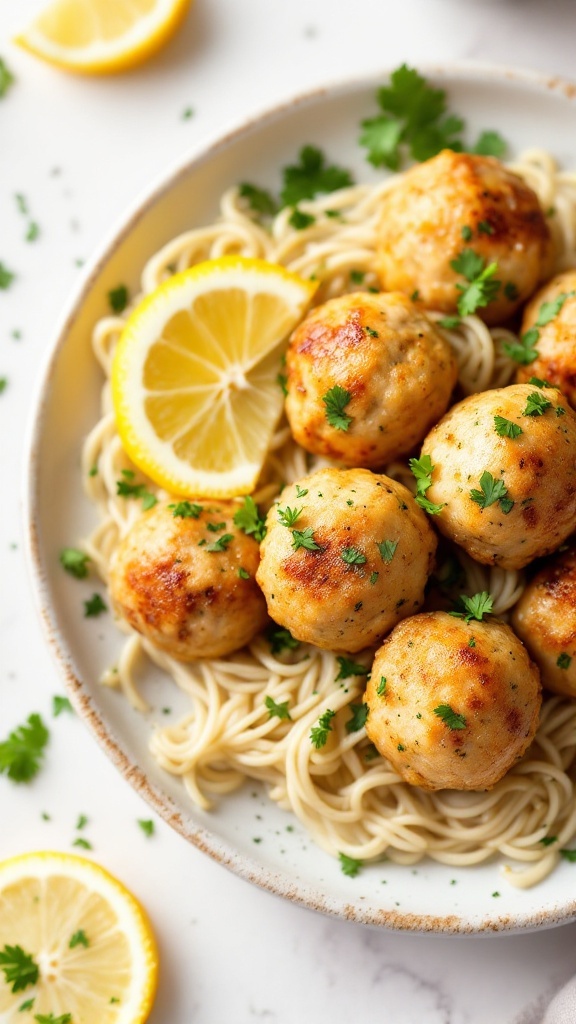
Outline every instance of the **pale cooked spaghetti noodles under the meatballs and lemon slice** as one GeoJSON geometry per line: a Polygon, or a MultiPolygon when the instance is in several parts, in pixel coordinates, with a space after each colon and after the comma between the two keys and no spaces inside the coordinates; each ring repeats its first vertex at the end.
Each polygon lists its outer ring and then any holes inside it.
{"type": "MultiPolygon", "coordinates": [[[[549,211],[559,253],[556,269],[576,265],[576,174],[560,173],[551,158],[536,150],[524,154],[511,169],[549,211]]],[[[320,282],[318,302],[358,290],[353,281],[375,288],[379,200],[394,180],[301,203],[302,211],[314,216],[314,224],[303,230],[290,226],[289,210],[276,217],[270,231],[264,230],[248,215],[238,189],[230,189],[215,223],[186,231],[149,260],[142,293],[153,291],[174,270],[230,253],[260,257],[302,276],[314,275],[320,282]]],[[[441,313],[429,316],[436,322],[443,318],[441,313]]],[[[99,513],[98,525],[84,548],[105,581],[119,540],[139,514],[135,502],[116,494],[122,470],[132,468],[116,432],[108,382],[123,326],[123,318],[107,317],[94,330],[94,351],[107,383],[102,418],[83,452],[87,492],[99,513]],[[97,474],[91,473],[96,465],[97,474]]],[[[509,382],[516,365],[502,348],[503,342],[516,340],[509,331],[489,330],[475,315],[463,317],[453,330],[441,330],[454,349],[465,394],[509,382]]],[[[255,500],[270,504],[281,481],[297,480],[318,465],[281,425],[255,500]]],[[[384,472],[412,486],[407,464],[396,462],[384,472]]],[[[149,487],[164,497],[154,484],[149,487]]],[[[455,565],[458,570],[454,577],[458,593],[489,591],[494,613],[505,618],[523,591],[522,573],[488,568],[456,550],[451,560],[452,569],[455,565]]],[[[517,862],[513,869],[503,870],[520,887],[533,885],[554,867],[558,851],[576,835],[574,701],[559,696],[544,700],[533,744],[492,791],[428,793],[401,780],[367,739],[362,716],[355,714],[369,657],[346,664],[304,644],[287,651],[278,647],[260,636],[230,657],[183,665],[130,633],[117,671],[108,673],[104,682],[118,683],[136,708],[146,710],[136,686],[136,667],[143,654],[190,697],[190,713],[176,725],[157,728],[151,750],[166,771],[181,776],[191,799],[202,808],[247,778],[259,779],[270,798],[291,810],[334,856],[364,861],[385,855],[402,864],[428,856],[446,864],[471,865],[500,853],[517,862]],[[274,710],[279,707],[284,709],[280,715],[274,710]],[[327,711],[334,712],[327,742],[317,750],[311,731],[327,711]],[[557,842],[546,845],[550,836],[557,842]]]]}

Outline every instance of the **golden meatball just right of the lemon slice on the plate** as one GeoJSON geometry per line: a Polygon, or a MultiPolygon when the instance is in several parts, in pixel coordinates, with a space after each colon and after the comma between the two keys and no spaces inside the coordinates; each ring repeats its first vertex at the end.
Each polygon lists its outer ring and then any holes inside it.
{"type": "Polygon", "coordinates": [[[351,466],[410,452],[446,412],[457,369],[400,292],[330,299],[294,331],[286,413],[298,444],[351,466]]]}

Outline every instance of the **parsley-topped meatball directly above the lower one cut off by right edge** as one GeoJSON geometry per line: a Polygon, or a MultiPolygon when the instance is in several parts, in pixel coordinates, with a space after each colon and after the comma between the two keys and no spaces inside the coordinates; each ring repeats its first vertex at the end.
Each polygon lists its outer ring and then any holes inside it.
{"type": "Polygon", "coordinates": [[[435,524],[479,562],[523,568],[576,528],[576,414],[553,388],[512,384],[464,398],[422,456],[435,524]]]}

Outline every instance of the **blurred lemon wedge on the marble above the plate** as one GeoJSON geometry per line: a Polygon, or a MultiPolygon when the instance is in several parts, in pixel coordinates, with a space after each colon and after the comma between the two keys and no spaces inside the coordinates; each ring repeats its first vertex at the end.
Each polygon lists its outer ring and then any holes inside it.
{"type": "Polygon", "coordinates": [[[125,71],[168,41],[190,5],[191,0],[53,0],[14,42],[67,71],[125,71]]]}

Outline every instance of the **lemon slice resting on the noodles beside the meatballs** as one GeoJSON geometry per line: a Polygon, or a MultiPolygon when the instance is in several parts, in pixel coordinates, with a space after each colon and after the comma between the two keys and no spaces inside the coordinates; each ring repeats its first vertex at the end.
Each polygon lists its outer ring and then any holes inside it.
{"type": "Polygon", "coordinates": [[[112,396],[124,449],[171,494],[249,494],[283,408],[280,343],[316,291],[223,256],[174,274],[129,317],[112,396]]]}

